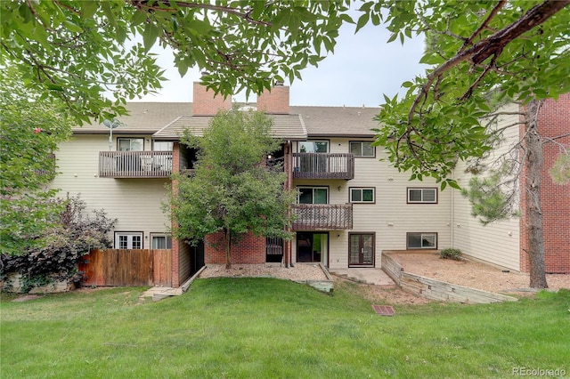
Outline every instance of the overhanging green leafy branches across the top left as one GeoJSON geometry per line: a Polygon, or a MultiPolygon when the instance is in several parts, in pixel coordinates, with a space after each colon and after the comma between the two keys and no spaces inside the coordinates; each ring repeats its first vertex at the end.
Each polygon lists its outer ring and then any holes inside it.
{"type": "Polygon", "coordinates": [[[182,75],[194,66],[208,72],[202,80],[216,93],[261,93],[333,51],[338,28],[351,20],[348,4],[4,1],[1,53],[24,84],[65,101],[79,121],[102,121],[124,114],[126,99],[160,87],[162,70],[149,54],[157,42],[173,48],[182,75]],[[102,97],[105,90],[114,100],[102,97]]]}

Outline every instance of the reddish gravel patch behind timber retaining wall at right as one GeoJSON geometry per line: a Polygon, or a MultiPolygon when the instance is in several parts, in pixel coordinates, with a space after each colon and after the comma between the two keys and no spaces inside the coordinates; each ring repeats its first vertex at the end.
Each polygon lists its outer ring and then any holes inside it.
{"type": "MultiPolygon", "coordinates": [[[[440,259],[438,253],[390,253],[403,270],[422,277],[489,292],[532,294],[530,278],[525,272],[504,269],[468,260],[440,259]]],[[[570,288],[570,274],[547,274],[550,289],[570,288]]]]}

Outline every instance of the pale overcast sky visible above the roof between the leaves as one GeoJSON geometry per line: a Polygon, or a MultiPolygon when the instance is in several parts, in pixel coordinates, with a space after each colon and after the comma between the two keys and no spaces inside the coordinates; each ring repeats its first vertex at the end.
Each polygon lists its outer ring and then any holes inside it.
{"type": "MultiPolygon", "coordinates": [[[[389,32],[381,26],[367,25],[354,35],[354,25],[344,25],[339,32],[334,54],[319,63],[318,68],[301,71],[302,80],[290,85],[290,104],[305,106],[378,107],[387,94],[403,93],[402,83],[423,74],[419,59],[423,39],[399,39],[387,44],[389,32]]],[[[199,81],[199,69],[189,69],[180,77],[172,63],[171,52],[156,47],[159,66],[169,79],[156,94],[139,101],[192,101],[192,83],[199,81]]],[[[234,101],[247,101],[245,94],[234,101]]],[[[249,101],[256,101],[255,95],[249,101]]]]}

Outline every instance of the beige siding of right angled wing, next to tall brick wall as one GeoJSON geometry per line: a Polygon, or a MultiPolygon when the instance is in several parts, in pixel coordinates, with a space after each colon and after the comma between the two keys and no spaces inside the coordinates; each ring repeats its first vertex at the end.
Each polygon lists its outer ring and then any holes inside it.
{"type": "MultiPolygon", "coordinates": [[[[511,106],[508,111],[517,111],[517,107],[511,106]]],[[[517,122],[517,116],[506,116],[501,119],[499,127],[511,125],[517,122]]],[[[500,149],[493,152],[488,162],[493,162],[501,154],[504,154],[513,143],[518,141],[518,127],[509,128],[504,137],[505,143],[500,149]]],[[[465,172],[466,165],[458,165],[455,176],[461,187],[468,187],[468,181],[472,177],[465,172]]],[[[455,190],[453,196],[453,246],[463,253],[472,255],[477,259],[493,262],[510,270],[519,270],[519,220],[513,218],[501,222],[492,222],[484,226],[471,215],[471,205],[467,198],[461,196],[455,190]]]]}

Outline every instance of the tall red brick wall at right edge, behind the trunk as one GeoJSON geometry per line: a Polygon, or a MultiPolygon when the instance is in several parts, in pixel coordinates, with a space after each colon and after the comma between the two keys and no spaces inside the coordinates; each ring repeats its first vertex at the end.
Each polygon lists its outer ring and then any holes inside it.
{"type": "MultiPolygon", "coordinates": [[[[539,112],[539,130],[542,138],[558,137],[570,133],[570,93],[558,101],[544,101],[539,112]]],[[[570,146],[570,136],[556,140],[570,146]]],[[[557,184],[550,177],[550,167],[560,153],[558,143],[544,144],[544,171],[542,173],[541,206],[544,233],[544,261],[546,272],[570,273],[570,183],[557,184]]],[[[521,191],[521,270],[528,271],[529,260],[525,230],[525,193],[521,191]]]]}

